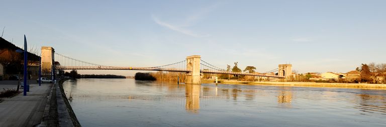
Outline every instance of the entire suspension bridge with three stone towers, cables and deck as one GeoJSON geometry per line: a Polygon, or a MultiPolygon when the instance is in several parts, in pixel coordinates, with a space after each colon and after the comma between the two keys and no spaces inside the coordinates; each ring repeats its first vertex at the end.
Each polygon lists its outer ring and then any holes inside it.
{"type": "Polygon", "coordinates": [[[107,66],[94,64],[72,57],[55,53],[52,47],[42,47],[42,70],[139,70],[139,71],[169,71],[185,72],[188,83],[200,84],[202,73],[249,75],[260,77],[286,78],[291,75],[291,64],[280,64],[278,68],[264,73],[231,72],[216,67],[201,59],[199,55],[186,57],[185,60],[162,66],[136,67],[136,66],[107,66]],[[276,73],[275,73],[276,72],[276,73]],[[272,74],[273,73],[273,74],[272,74]]]}

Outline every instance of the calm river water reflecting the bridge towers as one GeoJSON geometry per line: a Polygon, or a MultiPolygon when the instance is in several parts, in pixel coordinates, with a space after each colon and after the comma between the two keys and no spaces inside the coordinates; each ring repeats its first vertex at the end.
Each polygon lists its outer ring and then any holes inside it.
{"type": "Polygon", "coordinates": [[[386,90],[134,79],[63,88],[82,126],[386,126],[386,90]]]}

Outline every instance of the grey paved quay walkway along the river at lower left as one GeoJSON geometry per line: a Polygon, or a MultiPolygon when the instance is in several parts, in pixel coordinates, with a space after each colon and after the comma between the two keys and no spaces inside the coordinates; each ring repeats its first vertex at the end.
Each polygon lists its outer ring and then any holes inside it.
{"type": "MultiPolygon", "coordinates": [[[[35,82],[30,81],[30,83],[35,82]]],[[[17,82],[0,82],[0,89],[7,89],[8,87],[16,88],[17,82]]],[[[27,96],[19,93],[12,98],[2,98],[4,101],[0,102],[0,126],[34,126],[39,124],[51,87],[52,84],[42,84],[41,86],[36,83],[30,84],[30,92],[27,92],[27,96]]]]}

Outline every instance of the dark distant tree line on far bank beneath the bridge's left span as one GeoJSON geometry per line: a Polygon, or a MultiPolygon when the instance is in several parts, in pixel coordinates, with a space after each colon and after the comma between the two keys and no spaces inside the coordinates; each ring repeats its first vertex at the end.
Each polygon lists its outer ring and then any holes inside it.
{"type": "Polygon", "coordinates": [[[71,78],[126,78],[126,76],[122,75],[111,75],[111,74],[78,74],[76,70],[72,70],[70,72],[65,72],[64,76],[68,76],[71,78]]]}

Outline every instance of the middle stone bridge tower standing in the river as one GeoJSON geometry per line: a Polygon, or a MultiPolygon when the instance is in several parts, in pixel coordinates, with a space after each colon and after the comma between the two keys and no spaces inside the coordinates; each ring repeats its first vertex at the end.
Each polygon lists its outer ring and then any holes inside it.
{"type": "Polygon", "coordinates": [[[200,55],[192,55],[186,57],[186,70],[190,72],[186,74],[185,83],[201,84],[200,61],[200,55]]]}

